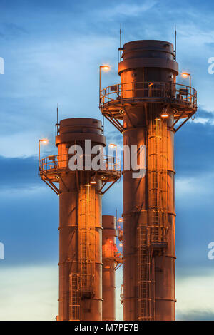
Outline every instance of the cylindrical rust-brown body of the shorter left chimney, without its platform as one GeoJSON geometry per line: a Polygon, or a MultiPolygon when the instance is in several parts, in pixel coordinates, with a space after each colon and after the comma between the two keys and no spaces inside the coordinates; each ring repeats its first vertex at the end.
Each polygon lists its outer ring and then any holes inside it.
{"type": "MultiPolygon", "coordinates": [[[[68,166],[69,148],[82,148],[85,140],[105,145],[101,122],[95,119],[61,120],[58,166],[68,166]]],[[[74,153],[74,152],[73,152],[74,153]]],[[[90,154],[90,152],[89,152],[90,154]]],[[[59,320],[101,320],[102,318],[102,231],[101,177],[91,184],[89,170],[67,172],[59,177],[59,320]]]]}

